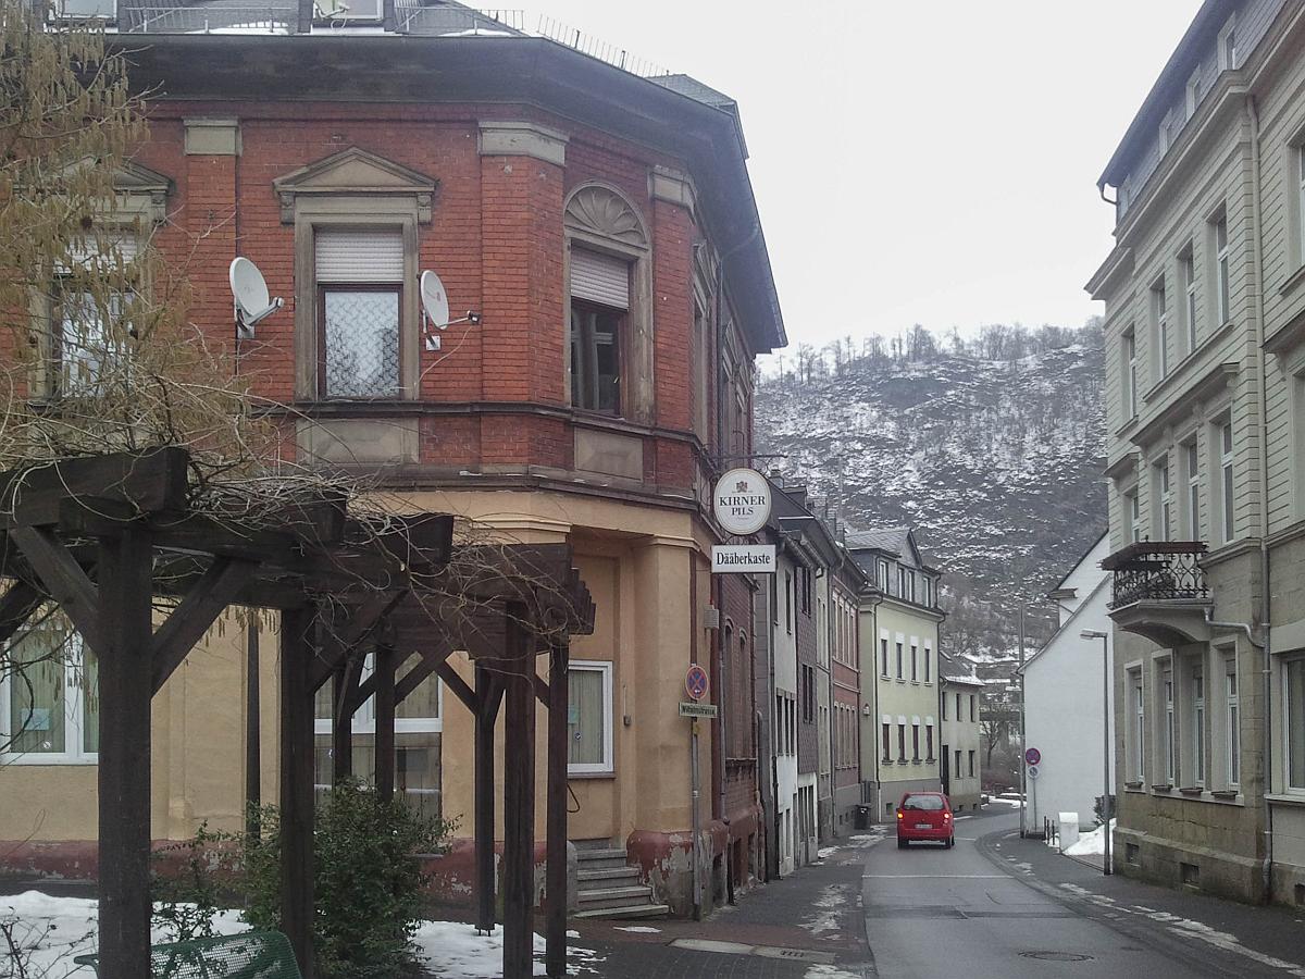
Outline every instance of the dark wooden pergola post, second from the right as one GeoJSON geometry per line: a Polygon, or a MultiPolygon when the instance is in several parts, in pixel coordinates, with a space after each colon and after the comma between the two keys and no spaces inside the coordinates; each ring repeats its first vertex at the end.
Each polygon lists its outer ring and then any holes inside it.
{"type": "Polygon", "coordinates": [[[508,681],[504,721],[502,975],[534,974],[535,658],[526,642],[523,606],[508,606],[508,681]]]}

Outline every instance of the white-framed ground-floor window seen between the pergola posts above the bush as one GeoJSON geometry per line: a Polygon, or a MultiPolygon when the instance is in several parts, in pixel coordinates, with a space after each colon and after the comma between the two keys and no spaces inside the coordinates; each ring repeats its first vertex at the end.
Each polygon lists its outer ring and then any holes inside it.
{"type": "MultiPolygon", "coordinates": [[[[399,664],[398,677],[419,662],[407,659],[407,668],[399,664]]],[[[361,679],[375,670],[371,655],[363,662],[361,679]]],[[[316,721],[316,785],[326,791],[334,781],[331,765],[331,707],[334,691],[324,685],[315,701],[316,721]]],[[[444,731],[441,684],[427,676],[411,694],[394,707],[394,787],[423,817],[441,815],[441,741],[444,731]]],[[[354,713],[354,774],[371,781],[376,773],[376,698],[369,697],[354,713]]]]}

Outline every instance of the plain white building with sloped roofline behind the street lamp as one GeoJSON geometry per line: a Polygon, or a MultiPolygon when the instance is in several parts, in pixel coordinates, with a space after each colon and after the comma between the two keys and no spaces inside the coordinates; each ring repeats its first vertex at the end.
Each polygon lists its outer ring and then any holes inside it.
{"type": "MultiPolygon", "coordinates": [[[[1094,805],[1105,781],[1101,724],[1101,640],[1088,632],[1111,632],[1107,603],[1111,576],[1100,563],[1109,553],[1101,538],[1049,594],[1058,607],[1056,633],[1021,667],[1024,676],[1024,744],[1041,752],[1037,778],[1028,781],[1028,826],[1075,812],[1081,826],[1095,825],[1094,805]]],[[[1112,670],[1113,676],[1113,670],[1112,670]]],[[[1113,691],[1113,680],[1112,687],[1113,691]]],[[[1111,697],[1111,744],[1114,704],[1111,697]]],[[[1112,752],[1113,756],[1113,752],[1112,752]]],[[[1113,778],[1114,758],[1111,758],[1113,778]]],[[[1112,782],[1113,785],[1113,782],[1112,782]]]]}

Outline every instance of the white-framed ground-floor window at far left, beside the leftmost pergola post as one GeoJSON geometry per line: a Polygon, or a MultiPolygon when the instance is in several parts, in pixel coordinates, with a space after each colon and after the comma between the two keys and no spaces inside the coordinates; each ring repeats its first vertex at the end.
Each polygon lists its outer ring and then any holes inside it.
{"type": "Polygon", "coordinates": [[[34,615],[9,646],[0,675],[0,760],[94,765],[99,751],[99,670],[68,620],[34,615]]]}

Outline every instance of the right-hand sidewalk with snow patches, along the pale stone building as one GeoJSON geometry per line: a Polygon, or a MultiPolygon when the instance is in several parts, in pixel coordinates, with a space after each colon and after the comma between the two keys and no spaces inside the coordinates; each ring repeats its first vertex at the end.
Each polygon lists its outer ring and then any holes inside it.
{"type": "Polygon", "coordinates": [[[1039,839],[992,833],[977,842],[992,863],[1139,941],[1195,942],[1233,974],[1305,976],[1305,909],[1241,905],[1101,873],[1100,856],[1065,856],[1039,839]]]}

